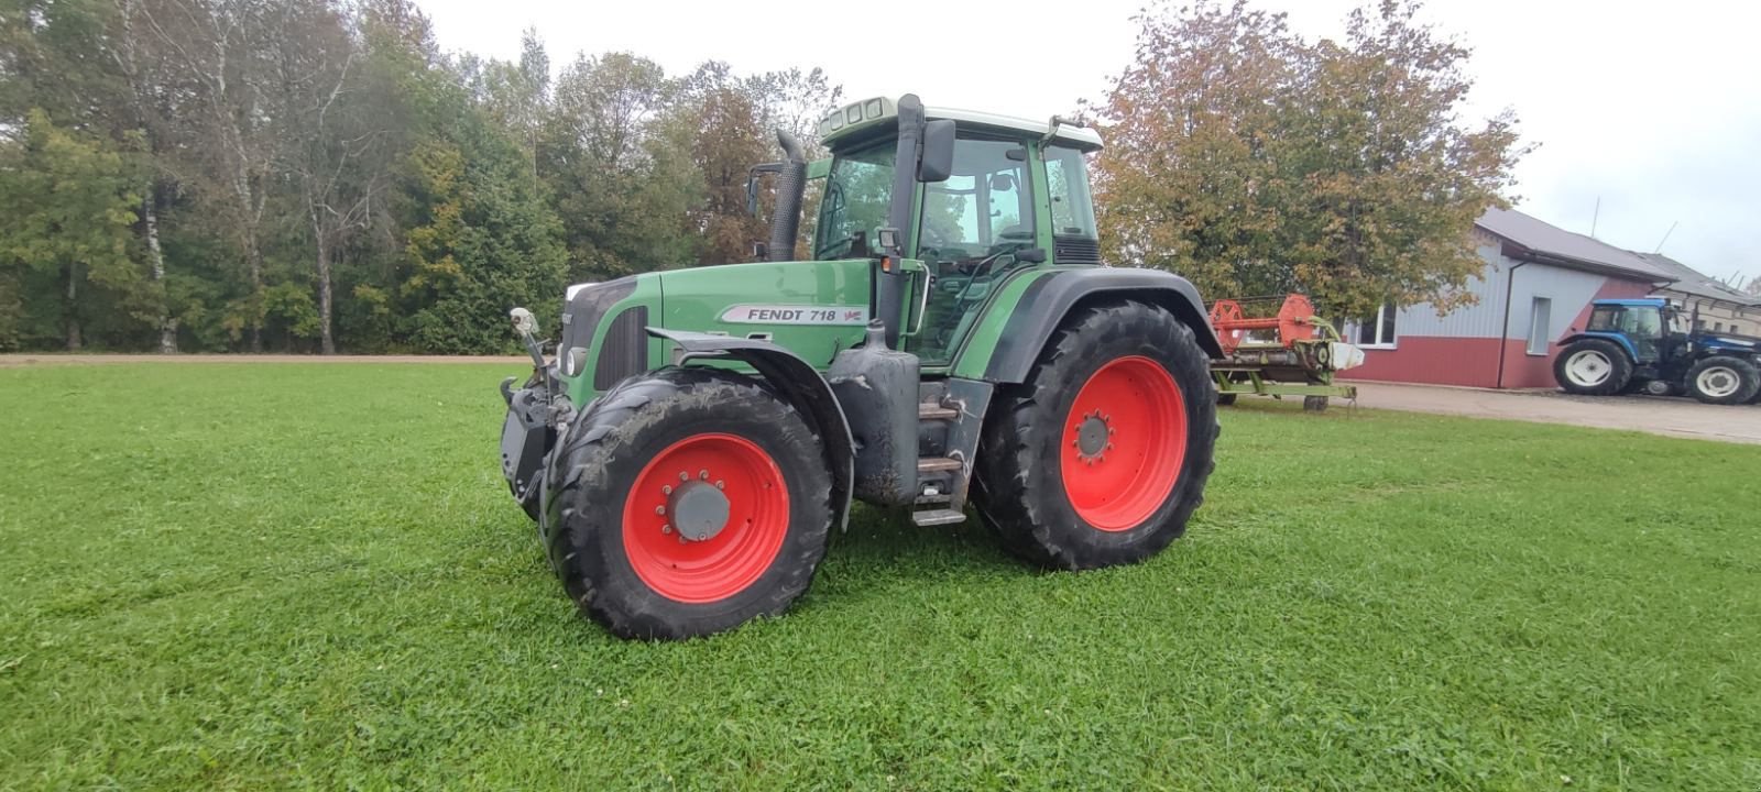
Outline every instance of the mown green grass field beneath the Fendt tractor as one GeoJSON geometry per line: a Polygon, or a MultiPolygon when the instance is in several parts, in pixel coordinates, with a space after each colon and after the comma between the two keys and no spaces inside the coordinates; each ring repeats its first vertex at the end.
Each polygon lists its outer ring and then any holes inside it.
{"type": "Polygon", "coordinates": [[[498,366],[0,370],[0,788],[1761,787],[1761,449],[1226,410],[1187,539],[859,512],[784,620],[576,618],[498,366]]]}

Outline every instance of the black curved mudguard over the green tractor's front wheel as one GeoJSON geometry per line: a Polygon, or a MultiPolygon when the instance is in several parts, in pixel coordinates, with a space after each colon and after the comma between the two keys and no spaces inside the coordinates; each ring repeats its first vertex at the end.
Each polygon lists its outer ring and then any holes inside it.
{"type": "Polygon", "coordinates": [[[831,394],[831,385],[812,364],[771,341],[711,336],[708,333],[666,327],[645,329],[650,336],[664,338],[678,347],[674,363],[685,364],[692,359],[734,359],[745,363],[777,391],[777,396],[794,405],[826,442],[831,470],[833,517],[840,530],[849,526],[851,488],[856,480],[856,442],[851,438],[851,424],[844,417],[844,408],[838,407],[838,398],[831,394]]]}

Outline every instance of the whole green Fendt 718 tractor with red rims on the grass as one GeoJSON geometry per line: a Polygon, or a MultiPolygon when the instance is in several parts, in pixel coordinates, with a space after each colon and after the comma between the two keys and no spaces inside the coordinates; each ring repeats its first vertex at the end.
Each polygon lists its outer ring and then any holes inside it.
{"type": "Polygon", "coordinates": [[[535,368],[502,384],[502,468],[616,635],[780,614],[852,498],[917,526],[970,503],[1065,570],[1148,558],[1203,502],[1220,348],[1185,278],[1101,262],[1101,136],[914,95],[819,132],[828,160],[778,132],[785,158],[754,167],[763,260],[571,287],[553,357],[512,312],[535,368]],[[812,257],[789,260],[819,178],[812,257]]]}

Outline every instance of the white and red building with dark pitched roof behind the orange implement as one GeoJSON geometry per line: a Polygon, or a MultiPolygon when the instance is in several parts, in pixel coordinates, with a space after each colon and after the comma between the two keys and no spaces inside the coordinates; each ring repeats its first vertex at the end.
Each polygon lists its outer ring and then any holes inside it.
{"type": "Polygon", "coordinates": [[[1442,317],[1430,304],[1382,308],[1347,322],[1365,363],[1354,380],[1472,387],[1553,387],[1558,340],[1583,327],[1590,301],[1643,297],[1673,278],[1645,257],[1557,229],[1514,209],[1474,224],[1486,269],[1469,290],[1479,299],[1442,317]]]}

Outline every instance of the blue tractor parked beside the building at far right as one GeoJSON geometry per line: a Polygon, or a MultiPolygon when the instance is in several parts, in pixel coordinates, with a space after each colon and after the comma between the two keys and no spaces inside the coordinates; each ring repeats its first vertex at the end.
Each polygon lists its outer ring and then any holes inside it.
{"type": "Polygon", "coordinates": [[[1689,394],[1708,405],[1761,398],[1761,340],[1691,329],[1661,297],[1597,299],[1583,333],[1562,341],[1553,378],[1566,392],[1689,394]]]}

